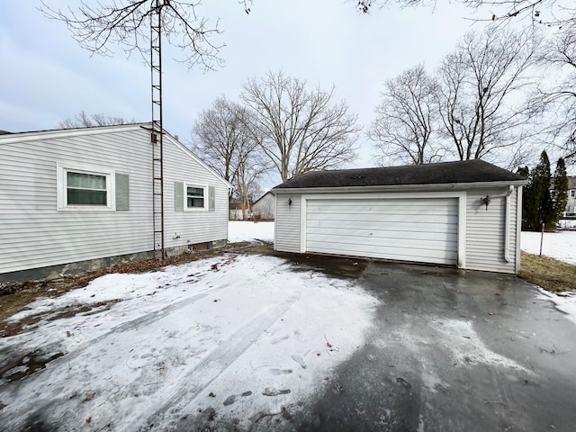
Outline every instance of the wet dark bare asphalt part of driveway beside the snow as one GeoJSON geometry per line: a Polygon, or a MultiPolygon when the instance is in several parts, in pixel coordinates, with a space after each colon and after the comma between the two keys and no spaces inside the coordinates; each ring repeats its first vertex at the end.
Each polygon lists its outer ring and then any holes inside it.
{"type": "Polygon", "coordinates": [[[575,430],[576,327],[534,286],[378,262],[359,277],[382,299],[374,329],[291,428],[575,430]]]}

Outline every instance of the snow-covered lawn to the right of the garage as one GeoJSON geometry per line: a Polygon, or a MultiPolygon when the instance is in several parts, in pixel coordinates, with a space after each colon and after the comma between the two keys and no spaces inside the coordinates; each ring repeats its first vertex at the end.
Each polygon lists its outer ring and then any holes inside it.
{"type": "MultiPolygon", "coordinates": [[[[541,236],[539,232],[522,231],[520,248],[538,255],[541,236]]],[[[545,232],[542,255],[576,266],[576,231],[545,232]]]]}

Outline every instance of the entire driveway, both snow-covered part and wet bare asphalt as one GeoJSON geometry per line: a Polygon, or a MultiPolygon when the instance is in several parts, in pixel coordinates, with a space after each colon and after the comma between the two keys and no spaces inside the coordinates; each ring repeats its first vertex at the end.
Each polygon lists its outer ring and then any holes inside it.
{"type": "Polygon", "coordinates": [[[0,430],[574,430],[576,326],[534,286],[281,258],[107,275],[41,301],[0,339],[0,364],[22,359],[0,368],[0,430]]]}

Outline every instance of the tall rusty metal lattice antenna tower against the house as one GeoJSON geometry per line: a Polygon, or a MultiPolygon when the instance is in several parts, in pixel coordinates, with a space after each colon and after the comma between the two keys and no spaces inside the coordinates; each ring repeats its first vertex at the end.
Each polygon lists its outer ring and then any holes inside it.
{"type": "Polygon", "coordinates": [[[152,72],[152,213],[155,256],[166,258],[164,248],[164,162],[162,126],[162,2],[152,0],[150,14],[150,70],[152,72]]]}

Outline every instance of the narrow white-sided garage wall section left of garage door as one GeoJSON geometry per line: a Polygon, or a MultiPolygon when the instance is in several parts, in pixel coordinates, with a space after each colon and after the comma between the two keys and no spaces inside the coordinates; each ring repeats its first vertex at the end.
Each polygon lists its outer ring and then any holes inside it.
{"type": "Polygon", "coordinates": [[[301,194],[276,193],[275,250],[301,252],[301,215],[301,194]]]}

